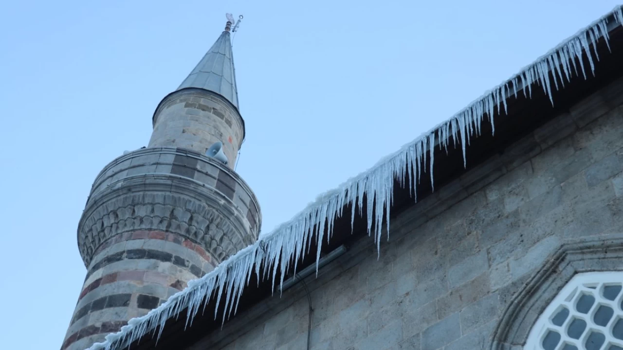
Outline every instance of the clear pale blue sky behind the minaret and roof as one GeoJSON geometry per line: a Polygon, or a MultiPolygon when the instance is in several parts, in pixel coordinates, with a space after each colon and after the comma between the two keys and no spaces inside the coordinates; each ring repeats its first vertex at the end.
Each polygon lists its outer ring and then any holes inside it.
{"type": "Polygon", "coordinates": [[[221,33],[262,232],[545,54],[616,1],[8,1],[0,11],[0,339],[59,349],[91,184],[221,33]]]}

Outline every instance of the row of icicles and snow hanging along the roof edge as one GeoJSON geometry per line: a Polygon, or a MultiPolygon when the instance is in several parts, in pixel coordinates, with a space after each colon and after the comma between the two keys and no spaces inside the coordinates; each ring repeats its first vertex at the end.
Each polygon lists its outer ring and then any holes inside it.
{"type": "MultiPolygon", "coordinates": [[[[459,111],[449,120],[440,123],[419,138],[402,146],[399,151],[381,159],[368,171],[359,174],[338,186],[338,188],[326,192],[308,205],[307,208],[297,214],[292,220],[280,225],[269,234],[262,235],[255,244],[249,245],[235,255],[220,263],[212,272],[207,273],[198,280],[189,281],[188,286],[171,296],[163,305],[151,310],[147,315],[133,318],[128,321],[126,326],[121,327],[118,333],[108,334],[103,343],[95,343],[87,350],[117,350],[128,346],[128,344],[141,338],[148,332],[158,331],[160,337],[164,323],[172,316],[177,316],[181,311],[188,308],[186,325],[192,323],[194,316],[201,308],[202,301],[205,303],[216,295],[216,309],[214,317],[221,302],[225,303],[222,321],[229,317],[232,311],[236,312],[238,301],[242,295],[245,285],[249,284],[252,273],[257,275],[257,280],[272,275],[272,286],[274,290],[277,269],[280,268],[281,278],[279,285],[283,283],[285,272],[290,268],[290,263],[297,262],[300,257],[309,252],[312,239],[321,242],[325,232],[325,222],[328,222],[329,235],[328,241],[333,232],[333,222],[336,217],[342,215],[342,210],[347,204],[351,204],[351,220],[354,220],[355,207],[359,207],[359,214],[363,215],[363,195],[367,198],[367,219],[368,235],[374,232],[374,242],[379,247],[381,240],[381,223],[383,214],[388,222],[389,239],[389,209],[392,202],[392,191],[394,179],[398,179],[402,186],[409,182],[409,190],[415,194],[416,178],[419,182],[421,174],[429,169],[430,180],[433,180],[433,150],[439,148],[446,149],[449,144],[450,136],[452,143],[457,147],[457,143],[463,150],[464,165],[465,147],[470,142],[470,137],[480,135],[480,125],[487,115],[493,126],[493,111],[497,108],[500,114],[500,103],[503,104],[506,112],[506,99],[515,95],[518,90],[523,90],[526,97],[531,97],[533,85],[540,85],[546,95],[551,100],[551,79],[549,72],[554,77],[554,87],[556,90],[564,88],[564,80],[570,81],[574,75],[579,77],[578,69],[586,78],[586,67],[581,59],[583,52],[587,55],[590,64],[590,71],[594,74],[593,59],[599,60],[597,56],[596,42],[604,38],[608,42],[608,31],[623,24],[622,6],[616,6],[611,12],[601,17],[591,25],[579,31],[573,37],[564,40],[561,44],[549,50],[548,53],[539,57],[535,62],[525,67],[502,84],[486,92],[482,97],[472,102],[464,110],[459,111]],[[614,17],[615,22],[608,23],[608,18],[614,17]],[[591,53],[589,44],[593,45],[594,52],[591,53]],[[593,57],[594,55],[594,57],[593,57]],[[562,65],[562,70],[561,66],[562,65]],[[559,86],[560,83],[560,86],[559,86]],[[511,84],[512,91],[508,87],[511,84]],[[528,92],[526,93],[526,88],[528,92]],[[460,138],[459,138],[460,136],[460,138]],[[429,153],[428,167],[426,154],[429,153]],[[408,179],[405,174],[408,174],[408,179]],[[373,209],[378,208],[374,212],[373,209]],[[386,210],[383,210],[385,208],[386,210]],[[374,222],[374,227],[372,227],[374,222]],[[315,237],[314,237],[315,236],[315,237]],[[305,251],[307,247],[307,252],[305,251]],[[260,266],[264,263],[264,270],[260,272],[260,266]],[[261,275],[260,275],[261,273],[261,275]],[[221,296],[226,296],[221,300],[221,296]]],[[[553,104],[553,101],[551,101],[553,104]]],[[[493,128],[495,133],[495,128],[493,128]]],[[[351,221],[352,225],[352,221],[351,221]]],[[[320,258],[320,249],[316,255],[317,262],[320,258]]],[[[258,282],[259,283],[259,282],[258,282]]],[[[205,306],[204,306],[205,307],[205,306]]]]}

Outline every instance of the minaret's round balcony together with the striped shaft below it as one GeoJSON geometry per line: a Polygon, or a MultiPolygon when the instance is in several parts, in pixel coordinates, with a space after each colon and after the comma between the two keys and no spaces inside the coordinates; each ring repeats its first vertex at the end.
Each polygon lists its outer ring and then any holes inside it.
{"type": "Polygon", "coordinates": [[[261,214],[231,169],[189,149],[145,148],[106,166],[78,224],[87,267],[62,350],[146,315],[252,244],[261,214]]]}

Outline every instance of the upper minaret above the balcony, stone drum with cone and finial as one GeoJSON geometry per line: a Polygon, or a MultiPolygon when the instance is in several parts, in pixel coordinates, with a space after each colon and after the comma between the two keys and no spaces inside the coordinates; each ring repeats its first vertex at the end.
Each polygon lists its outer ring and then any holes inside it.
{"type": "Polygon", "coordinates": [[[189,73],[188,77],[156,108],[150,147],[179,147],[206,154],[222,143],[227,164],[234,169],[244,140],[235,81],[231,33],[240,25],[227,16],[225,30],[189,73]],[[182,113],[180,113],[180,111],[182,113]]]}

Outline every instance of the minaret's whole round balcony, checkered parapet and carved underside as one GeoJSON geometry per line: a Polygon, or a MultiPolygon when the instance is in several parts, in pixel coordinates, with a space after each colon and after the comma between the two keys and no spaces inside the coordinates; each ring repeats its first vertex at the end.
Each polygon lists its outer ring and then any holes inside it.
{"type": "Polygon", "coordinates": [[[78,224],[78,247],[88,266],[98,246],[134,230],[173,232],[221,262],[252,244],[259,205],[231,169],[177,148],[138,149],[106,166],[78,224]]]}

